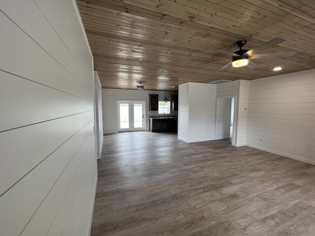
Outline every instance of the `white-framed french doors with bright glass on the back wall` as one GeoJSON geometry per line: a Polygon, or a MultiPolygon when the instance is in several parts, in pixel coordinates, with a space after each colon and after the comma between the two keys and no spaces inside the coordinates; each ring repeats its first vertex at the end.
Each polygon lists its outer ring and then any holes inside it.
{"type": "Polygon", "coordinates": [[[118,101],[118,131],[144,130],[144,101],[118,101]]]}

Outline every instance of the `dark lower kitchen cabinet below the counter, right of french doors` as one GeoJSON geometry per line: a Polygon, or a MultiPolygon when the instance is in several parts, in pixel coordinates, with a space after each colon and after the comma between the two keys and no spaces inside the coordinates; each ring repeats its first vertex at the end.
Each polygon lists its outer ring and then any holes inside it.
{"type": "Polygon", "coordinates": [[[177,132],[177,118],[150,118],[150,131],[177,132]]]}

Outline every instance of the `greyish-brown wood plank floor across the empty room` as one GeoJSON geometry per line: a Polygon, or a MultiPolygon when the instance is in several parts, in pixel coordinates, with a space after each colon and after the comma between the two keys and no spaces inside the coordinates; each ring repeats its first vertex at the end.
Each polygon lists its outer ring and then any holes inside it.
{"type": "Polygon", "coordinates": [[[315,236],[315,166],[172,133],[104,136],[92,236],[315,236]]]}

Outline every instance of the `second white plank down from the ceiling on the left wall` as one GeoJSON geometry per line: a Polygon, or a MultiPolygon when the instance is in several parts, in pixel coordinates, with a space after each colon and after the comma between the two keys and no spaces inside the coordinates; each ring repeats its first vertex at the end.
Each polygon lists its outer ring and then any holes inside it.
{"type": "Polygon", "coordinates": [[[77,80],[87,88],[89,87],[90,82],[86,79],[87,75],[81,69],[55,29],[48,22],[43,12],[36,5],[35,1],[1,1],[0,9],[77,80]],[[29,14],[29,12],[32,12],[32,14],[29,14]],[[36,24],[32,24],[33,22],[36,22],[36,24]]]}

